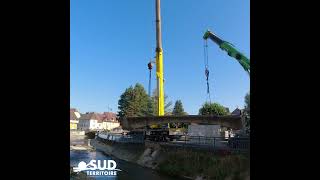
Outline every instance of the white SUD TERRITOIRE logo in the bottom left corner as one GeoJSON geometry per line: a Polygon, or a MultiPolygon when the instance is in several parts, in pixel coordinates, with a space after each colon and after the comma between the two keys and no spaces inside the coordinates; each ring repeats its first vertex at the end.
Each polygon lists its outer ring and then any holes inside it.
{"type": "Polygon", "coordinates": [[[116,176],[117,163],[114,160],[91,160],[88,164],[79,162],[78,167],[74,167],[74,172],[86,171],[88,176],[116,176]]]}

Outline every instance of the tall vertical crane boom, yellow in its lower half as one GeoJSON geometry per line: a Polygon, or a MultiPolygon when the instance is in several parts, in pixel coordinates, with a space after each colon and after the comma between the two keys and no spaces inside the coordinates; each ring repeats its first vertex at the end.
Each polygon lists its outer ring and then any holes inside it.
{"type": "Polygon", "coordinates": [[[157,69],[157,93],[158,93],[158,115],[164,115],[164,80],[163,80],[163,56],[161,37],[161,15],[160,0],[156,0],[156,69],[157,69]]]}

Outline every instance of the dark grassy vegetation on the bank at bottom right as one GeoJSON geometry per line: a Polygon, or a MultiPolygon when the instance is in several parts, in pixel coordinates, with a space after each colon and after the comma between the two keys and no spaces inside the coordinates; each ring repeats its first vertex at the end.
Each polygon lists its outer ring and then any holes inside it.
{"type": "Polygon", "coordinates": [[[158,171],[174,177],[201,177],[206,180],[246,180],[250,158],[243,154],[224,154],[178,150],[168,152],[158,171]]]}

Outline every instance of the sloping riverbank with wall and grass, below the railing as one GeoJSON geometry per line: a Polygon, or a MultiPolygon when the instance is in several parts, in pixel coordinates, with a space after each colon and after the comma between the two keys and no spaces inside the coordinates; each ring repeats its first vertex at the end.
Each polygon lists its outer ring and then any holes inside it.
{"type": "Polygon", "coordinates": [[[96,138],[90,143],[108,156],[179,179],[250,179],[250,163],[248,163],[250,161],[242,154],[171,147],[148,141],[143,144],[132,144],[96,138]]]}

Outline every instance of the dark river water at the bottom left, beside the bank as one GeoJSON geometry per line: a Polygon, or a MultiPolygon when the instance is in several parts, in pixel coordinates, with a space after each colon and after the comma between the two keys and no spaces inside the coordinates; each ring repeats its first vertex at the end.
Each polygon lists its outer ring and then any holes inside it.
{"type": "MultiPolygon", "coordinates": [[[[81,145],[83,147],[88,147],[88,139],[77,138],[70,139],[71,145],[81,145]]],[[[117,173],[116,177],[112,176],[97,176],[95,179],[110,179],[110,180],[141,180],[141,179],[152,179],[152,180],[173,180],[174,178],[163,176],[158,174],[156,171],[141,167],[137,164],[126,162],[120,159],[115,159],[114,157],[109,157],[99,150],[82,150],[74,151],[70,150],[70,166],[77,167],[80,161],[89,162],[90,160],[108,160],[112,159],[117,163],[117,169],[121,169],[117,173]]]]}

